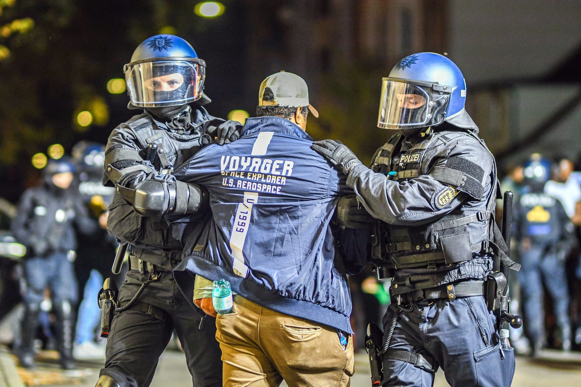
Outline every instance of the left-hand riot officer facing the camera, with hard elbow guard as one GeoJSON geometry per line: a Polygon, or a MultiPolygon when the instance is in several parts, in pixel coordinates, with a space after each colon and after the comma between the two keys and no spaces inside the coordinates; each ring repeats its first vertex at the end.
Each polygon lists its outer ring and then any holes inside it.
{"type": "Polygon", "coordinates": [[[117,190],[107,228],[129,245],[131,270],[119,290],[98,386],[148,386],[174,329],[193,385],[221,385],[216,326],[202,324],[175,284],[171,270],[182,247],[160,218],[196,212],[205,201],[199,186],[175,180],[174,167],[214,138],[224,143],[239,135],[241,125],[202,107],[210,102],[203,92],[205,71],[192,46],[174,35],[146,39],[124,66],[128,107],[142,112],[109,136],[103,184],[117,190]]]}

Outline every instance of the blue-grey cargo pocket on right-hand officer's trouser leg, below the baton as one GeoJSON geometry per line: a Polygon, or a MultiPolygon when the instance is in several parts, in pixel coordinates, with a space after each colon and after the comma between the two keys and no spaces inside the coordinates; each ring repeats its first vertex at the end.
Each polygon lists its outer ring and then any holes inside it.
{"type": "Polygon", "coordinates": [[[501,357],[500,343],[490,345],[474,352],[476,362],[476,379],[480,387],[510,387],[514,376],[514,349],[503,349],[501,357]]]}

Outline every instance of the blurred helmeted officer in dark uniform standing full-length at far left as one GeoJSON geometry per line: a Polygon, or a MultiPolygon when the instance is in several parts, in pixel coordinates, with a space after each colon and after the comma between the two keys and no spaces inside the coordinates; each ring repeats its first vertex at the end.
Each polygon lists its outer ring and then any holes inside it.
{"type": "Polygon", "coordinates": [[[94,232],[95,227],[74,190],[69,189],[73,172],[73,164],[65,157],[49,161],[44,169],[44,182],[24,191],[11,225],[13,234],[29,252],[23,262],[25,311],[21,344],[17,349],[23,367],[35,365],[34,339],[40,304],[48,286],[56,316],[60,364],[64,369],[74,368],[74,315],[78,295],[73,270],[77,248],[73,224],[84,233],[94,232]]]}

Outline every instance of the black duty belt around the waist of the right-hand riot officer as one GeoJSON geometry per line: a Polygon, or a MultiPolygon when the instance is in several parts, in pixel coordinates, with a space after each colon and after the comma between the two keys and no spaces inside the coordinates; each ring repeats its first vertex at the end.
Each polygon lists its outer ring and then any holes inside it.
{"type": "Polygon", "coordinates": [[[486,294],[486,281],[462,281],[456,284],[439,285],[433,288],[409,291],[409,288],[403,287],[398,294],[397,284],[390,288],[392,296],[395,296],[398,303],[408,301],[418,301],[421,299],[449,299],[453,301],[456,298],[481,296],[486,294]]]}

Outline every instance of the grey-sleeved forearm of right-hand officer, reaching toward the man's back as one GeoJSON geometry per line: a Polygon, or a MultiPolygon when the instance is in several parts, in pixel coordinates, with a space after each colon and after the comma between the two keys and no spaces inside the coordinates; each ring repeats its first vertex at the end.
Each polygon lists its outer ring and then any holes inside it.
{"type": "Polygon", "coordinates": [[[422,225],[452,211],[465,197],[460,193],[444,208],[437,209],[432,198],[446,187],[442,183],[427,175],[405,183],[394,182],[364,165],[356,165],[350,171],[347,185],[371,216],[392,225],[422,225]]]}

